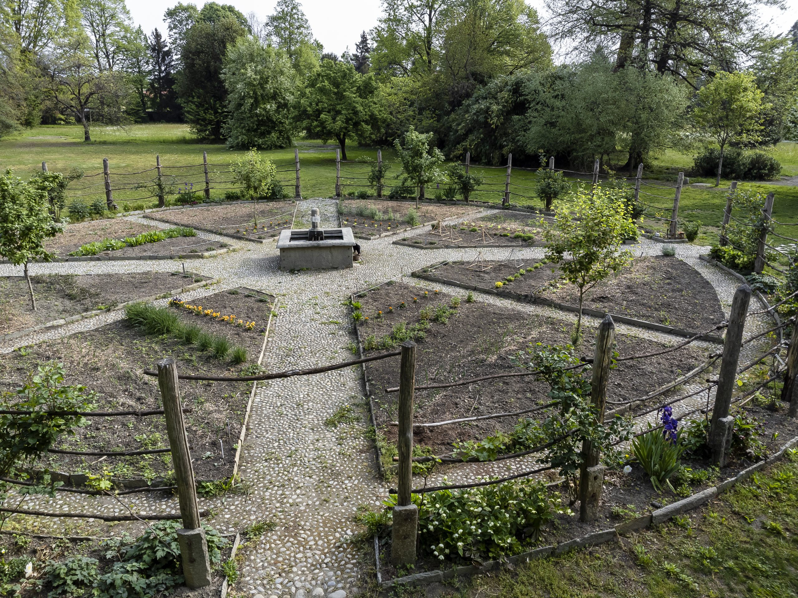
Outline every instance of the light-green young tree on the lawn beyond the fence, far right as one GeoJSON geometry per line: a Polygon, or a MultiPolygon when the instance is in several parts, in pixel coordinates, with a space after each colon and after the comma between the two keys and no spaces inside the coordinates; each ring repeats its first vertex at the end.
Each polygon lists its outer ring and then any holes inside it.
{"type": "Polygon", "coordinates": [[[757,141],[762,125],[764,93],[749,73],[717,73],[712,81],[698,90],[698,105],[693,112],[696,124],[718,145],[715,187],[721,184],[723,152],[731,141],[757,141]]]}

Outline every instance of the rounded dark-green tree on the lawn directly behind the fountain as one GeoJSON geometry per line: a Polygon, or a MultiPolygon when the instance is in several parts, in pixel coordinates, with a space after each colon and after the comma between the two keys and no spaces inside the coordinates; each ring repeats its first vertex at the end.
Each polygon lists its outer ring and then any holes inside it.
{"type": "Polygon", "coordinates": [[[380,85],[348,62],[322,61],[307,83],[298,107],[298,121],[308,135],[334,139],[346,159],[346,140],[372,140],[385,120],[380,85]]]}

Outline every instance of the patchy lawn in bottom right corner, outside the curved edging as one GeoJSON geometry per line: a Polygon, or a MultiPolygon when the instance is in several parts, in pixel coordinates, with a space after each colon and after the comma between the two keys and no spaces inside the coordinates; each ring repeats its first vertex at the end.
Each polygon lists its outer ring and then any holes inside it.
{"type": "MultiPolygon", "coordinates": [[[[798,456],[703,509],[619,542],[447,582],[458,598],[798,596],[798,456]],[[454,585],[452,588],[451,586],[454,585]]],[[[396,596],[423,596],[405,588],[396,596]]]]}

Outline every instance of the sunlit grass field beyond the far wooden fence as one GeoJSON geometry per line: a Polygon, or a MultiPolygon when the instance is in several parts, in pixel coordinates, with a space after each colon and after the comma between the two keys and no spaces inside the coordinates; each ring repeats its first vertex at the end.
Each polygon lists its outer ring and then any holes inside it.
{"type": "MultiPolygon", "coordinates": [[[[47,162],[51,171],[69,171],[71,168],[80,168],[87,177],[77,183],[86,189],[84,198],[88,201],[94,197],[103,197],[102,159],[108,158],[111,178],[114,187],[122,187],[124,191],[116,191],[114,199],[123,209],[140,209],[156,205],[152,197],[136,201],[137,197],[149,195],[137,189],[137,184],[151,181],[154,173],[145,172],[140,175],[128,175],[125,178],[121,173],[140,172],[155,167],[156,155],[160,155],[164,165],[164,174],[176,175],[175,180],[191,180],[196,182],[199,189],[202,187],[202,169],[174,169],[187,165],[202,163],[202,152],[207,151],[208,161],[221,166],[211,167],[211,171],[223,171],[226,165],[237,159],[242,151],[227,150],[221,144],[200,144],[192,140],[188,128],[184,124],[137,124],[125,128],[112,128],[97,126],[92,131],[93,142],[83,142],[83,130],[78,126],[41,126],[23,129],[14,136],[0,140],[0,167],[3,170],[10,167],[22,178],[27,178],[41,168],[41,162],[47,162]],[[95,175],[89,177],[88,175],[95,175]]],[[[334,195],[335,187],[335,146],[322,144],[314,140],[298,140],[299,157],[301,164],[302,196],[303,197],[330,197],[334,195]]],[[[377,151],[374,148],[347,148],[350,160],[376,159],[377,151]]],[[[773,150],[774,155],[783,165],[784,175],[798,174],[798,144],[784,142],[773,150]]],[[[263,155],[275,163],[286,164],[294,160],[294,148],[283,150],[264,151],[263,155]]],[[[383,151],[385,160],[395,159],[392,149],[383,151]]],[[[654,161],[654,173],[658,180],[654,184],[674,185],[675,173],[678,170],[688,171],[692,165],[692,157],[675,151],[666,151],[654,161]]],[[[284,184],[294,184],[294,173],[286,167],[286,172],[280,173],[284,184]]],[[[393,167],[392,174],[397,172],[393,167]]],[[[480,168],[473,170],[485,175],[485,187],[491,191],[480,191],[473,195],[473,199],[481,199],[500,203],[504,191],[504,168],[480,168]]],[[[353,177],[349,179],[351,186],[345,191],[357,191],[354,185],[367,183],[365,177],[369,167],[365,164],[342,164],[342,175],[353,177]]],[[[211,177],[214,175],[211,174],[211,177]]],[[[215,175],[215,180],[228,179],[223,172],[215,175]]],[[[514,168],[512,171],[512,191],[519,195],[513,196],[513,203],[522,206],[538,207],[538,199],[524,198],[522,195],[534,195],[534,171],[524,171],[514,168]]],[[[692,179],[691,182],[707,182],[708,179],[692,179]]],[[[346,181],[345,181],[346,183],[346,181]]],[[[720,224],[723,208],[726,202],[725,188],[729,181],[722,181],[719,188],[685,187],[681,195],[679,217],[683,220],[700,220],[706,226],[720,224]]],[[[232,187],[231,183],[215,185],[214,194],[223,195],[225,187],[232,187]]],[[[743,190],[776,194],[773,208],[773,217],[784,222],[798,222],[798,187],[786,185],[772,185],[766,183],[741,183],[743,190]]],[[[293,191],[292,188],[286,191],[293,191]]],[[[435,189],[427,190],[427,197],[433,197],[435,189]]],[[[657,206],[655,214],[670,218],[670,208],[673,203],[672,190],[658,190],[653,187],[643,187],[643,191],[662,195],[660,198],[642,195],[641,199],[657,206]]],[[[73,192],[74,193],[74,192],[73,192]]],[[[293,195],[293,193],[290,193],[293,195]]],[[[649,219],[648,223],[654,227],[658,221],[649,219]]],[[[663,227],[663,225],[659,225],[663,227]]],[[[792,236],[792,231],[784,227],[776,227],[777,232],[792,236]]],[[[711,242],[717,238],[717,230],[706,229],[699,238],[700,242],[711,242]]]]}

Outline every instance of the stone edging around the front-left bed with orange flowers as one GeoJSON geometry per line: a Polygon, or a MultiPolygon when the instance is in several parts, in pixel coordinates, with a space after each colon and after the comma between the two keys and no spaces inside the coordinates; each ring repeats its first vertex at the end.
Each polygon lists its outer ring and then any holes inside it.
{"type": "MultiPolygon", "coordinates": [[[[213,279],[211,279],[209,281],[206,281],[206,284],[204,284],[204,285],[203,285],[203,283],[197,283],[196,285],[192,285],[192,286],[194,286],[194,287],[199,289],[202,286],[215,285],[220,280],[221,280],[220,278],[213,278],[213,279]]],[[[252,291],[253,293],[261,293],[261,294],[269,297],[270,300],[272,300],[271,301],[271,305],[270,305],[270,313],[269,313],[269,325],[267,325],[267,332],[266,332],[266,334],[263,337],[263,345],[261,346],[260,356],[258,358],[258,365],[260,365],[263,362],[263,356],[264,356],[264,354],[266,352],[266,344],[267,344],[267,341],[269,340],[269,328],[271,326],[271,320],[272,320],[271,312],[273,311],[271,308],[274,307],[274,305],[275,305],[275,301],[274,300],[276,299],[276,297],[274,295],[272,295],[271,293],[266,293],[265,291],[259,291],[258,289],[250,289],[250,288],[248,288],[246,286],[231,287],[231,289],[244,289],[244,290],[247,290],[247,291],[252,291]]],[[[170,293],[162,293],[163,296],[159,295],[159,296],[157,296],[155,298],[156,299],[162,299],[162,298],[168,297],[169,295],[176,295],[178,293],[186,293],[188,290],[192,290],[192,289],[188,289],[188,287],[187,287],[187,288],[185,288],[185,289],[183,289],[181,291],[178,291],[178,292],[171,291],[170,293]]],[[[148,299],[138,299],[136,301],[151,301],[151,299],[150,298],[148,298],[148,299]]],[[[128,301],[128,303],[136,303],[136,301],[128,301]]],[[[124,305],[128,305],[128,304],[126,303],[124,305]]],[[[123,305],[120,305],[120,306],[117,307],[117,309],[121,309],[122,307],[123,307],[123,305]]],[[[109,310],[109,311],[111,311],[111,310],[109,310]]],[[[252,383],[252,390],[250,391],[250,397],[249,397],[249,400],[247,401],[247,411],[246,411],[246,414],[244,415],[243,423],[241,424],[241,432],[239,434],[238,447],[235,450],[235,458],[233,458],[233,473],[231,474],[230,478],[197,479],[197,480],[195,480],[196,484],[199,485],[201,483],[206,483],[206,482],[207,483],[220,482],[223,479],[234,479],[235,478],[235,475],[238,473],[238,470],[239,470],[239,462],[241,460],[241,452],[242,452],[242,448],[243,448],[244,439],[246,438],[246,434],[247,434],[247,421],[249,420],[250,412],[252,410],[252,402],[255,399],[255,391],[256,391],[257,385],[258,385],[257,382],[253,382],[252,383]]],[[[26,469],[25,472],[26,472],[26,474],[29,474],[30,476],[32,476],[34,478],[38,478],[38,476],[40,476],[41,474],[45,473],[44,470],[34,470],[34,469],[26,469]]],[[[81,486],[85,486],[86,482],[89,481],[89,476],[87,474],[65,474],[62,471],[49,471],[49,474],[50,474],[50,477],[53,478],[54,482],[63,482],[64,486],[69,486],[70,488],[78,488],[78,487],[81,487],[81,486]]],[[[126,479],[126,480],[120,480],[119,478],[111,478],[111,483],[113,484],[115,490],[133,490],[133,489],[136,489],[136,488],[144,488],[144,487],[160,488],[161,486],[167,486],[168,485],[164,478],[153,478],[152,482],[148,482],[146,478],[130,478],[130,479],[126,479]]]]}

